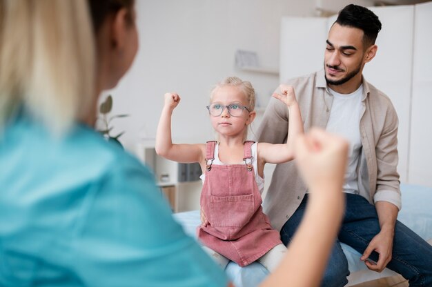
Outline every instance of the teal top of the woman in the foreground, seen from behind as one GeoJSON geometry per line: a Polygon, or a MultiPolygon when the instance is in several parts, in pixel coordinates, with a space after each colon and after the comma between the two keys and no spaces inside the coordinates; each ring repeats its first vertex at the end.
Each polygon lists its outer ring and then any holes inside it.
{"type": "Polygon", "coordinates": [[[117,144],[23,112],[0,132],[0,286],[227,286],[117,144]]]}

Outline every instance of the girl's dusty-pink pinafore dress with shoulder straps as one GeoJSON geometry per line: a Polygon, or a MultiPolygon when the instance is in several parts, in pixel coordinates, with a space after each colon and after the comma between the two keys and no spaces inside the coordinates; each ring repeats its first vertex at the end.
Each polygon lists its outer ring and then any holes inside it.
{"type": "Polygon", "coordinates": [[[197,237],[208,248],[243,267],[282,241],[262,212],[252,166],[253,142],[244,144],[244,164],[230,165],[212,165],[215,144],[207,142],[206,179],[201,193],[201,208],[209,224],[198,226],[197,237]]]}

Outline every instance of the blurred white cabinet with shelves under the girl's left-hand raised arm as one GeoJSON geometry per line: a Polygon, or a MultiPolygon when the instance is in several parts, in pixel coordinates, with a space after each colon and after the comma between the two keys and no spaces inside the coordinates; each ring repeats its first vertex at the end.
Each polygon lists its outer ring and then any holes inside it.
{"type": "Polygon", "coordinates": [[[159,157],[152,141],[138,143],[135,155],[153,170],[156,184],[161,188],[173,212],[199,209],[202,190],[202,181],[199,179],[201,170],[197,169],[199,164],[179,164],[159,157]]]}

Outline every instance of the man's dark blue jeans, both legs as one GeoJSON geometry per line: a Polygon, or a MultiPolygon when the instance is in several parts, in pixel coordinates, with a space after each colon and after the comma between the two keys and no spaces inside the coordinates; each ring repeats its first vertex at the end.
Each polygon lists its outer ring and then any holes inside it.
{"type": "MultiPolygon", "coordinates": [[[[282,242],[287,245],[302,220],[308,195],[293,216],[286,221],[280,232],[282,242]]],[[[340,242],[351,246],[360,254],[380,232],[375,206],[360,195],[346,194],[346,210],[342,226],[328,261],[322,286],[344,286],[348,283],[348,261],[340,242]]],[[[373,252],[369,257],[378,260],[373,252]]],[[[360,260],[360,258],[359,258],[360,260]]],[[[432,286],[432,246],[411,229],[396,221],[393,239],[393,255],[387,268],[409,279],[409,286],[432,286]]]]}

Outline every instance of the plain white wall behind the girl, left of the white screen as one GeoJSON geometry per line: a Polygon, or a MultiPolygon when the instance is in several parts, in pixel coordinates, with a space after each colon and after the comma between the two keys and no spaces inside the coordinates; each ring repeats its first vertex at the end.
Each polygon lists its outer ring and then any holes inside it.
{"type": "Polygon", "coordinates": [[[313,0],[137,1],[137,59],[109,91],[112,114],[130,117],[115,119],[113,134],[126,130],[120,140],[128,147],[140,137],[154,137],[164,92],[176,91],[182,99],[174,113],[174,139],[212,139],[205,108],[209,91],[229,75],[252,81],[265,106],[277,75],[236,70],[235,50],[253,50],[262,66],[277,70],[281,17],[311,15],[313,5],[313,0]]]}

